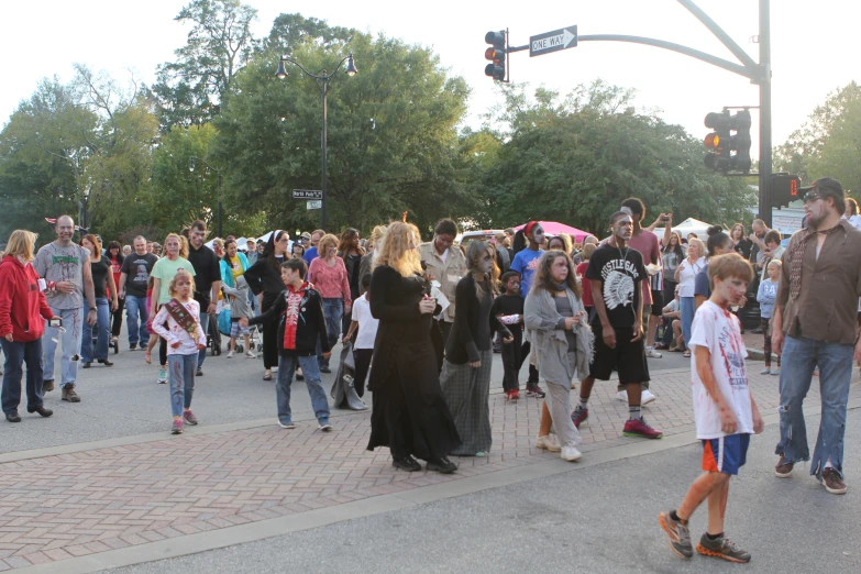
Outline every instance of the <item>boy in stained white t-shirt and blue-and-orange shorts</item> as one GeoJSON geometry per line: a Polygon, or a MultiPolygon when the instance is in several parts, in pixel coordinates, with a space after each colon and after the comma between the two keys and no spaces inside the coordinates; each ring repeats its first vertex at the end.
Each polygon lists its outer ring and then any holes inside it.
{"type": "Polygon", "coordinates": [[[748,389],[739,320],[729,307],[739,305],[753,269],[738,253],[713,257],[708,265],[711,297],[696,311],[689,346],[697,439],[703,441],[703,473],[676,510],[661,512],[670,548],[693,556],[687,521],[708,498],[708,528],[697,552],[730,562],[749,562],[750,553],[724,537],[729,478],[744,465],[751,433],[762,432],[762,417],[748,389]]]}

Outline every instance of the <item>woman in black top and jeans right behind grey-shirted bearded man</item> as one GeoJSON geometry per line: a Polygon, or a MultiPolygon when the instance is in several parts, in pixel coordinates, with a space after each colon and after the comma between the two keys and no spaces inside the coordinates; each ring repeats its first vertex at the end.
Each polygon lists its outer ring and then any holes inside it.
{"type": "Polygon", "coordinates": [[[117,302],[117,284],[113,282],[111,266],[101,255],[101,245],[96,235],[84,235],[80,240],[80,246],[90,252],[90,268],[92,269],[92,289],[96,292],[96,325],[99,329],[96,342],[96,353],[92,352],[92,325],[84,322],[82,336],[80,343],[80,360],[82,368],[90,368],[92,360],[96,358],[104,366],[113,366],[108,361],[108,349],[111,330],[111,310],[115,311],[119,307],[117,302]],[[108,303],[108,297],[111,302],[108,303]]]}

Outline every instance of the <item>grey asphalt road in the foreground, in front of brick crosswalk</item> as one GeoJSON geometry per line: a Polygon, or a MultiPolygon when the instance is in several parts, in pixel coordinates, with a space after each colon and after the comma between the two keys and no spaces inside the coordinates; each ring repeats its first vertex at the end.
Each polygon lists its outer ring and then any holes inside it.
{"type": "MultiPolygon", "coordinates": [[[[808,419],[812,439],[817,422],[808,419]]],[[[752,553],[748,565],[684,560],[667,548],[656,517],[699,473],[702,450],[691,445],[115,572],[861,572],[858,411],[847,429],[845,496],[827,494],[808,468],[776,478],[776,434],[771,426],[752,440],[730,487],[726,531],[752,553]]],[[[700,508],[694,540],[705,521],[700,508]]]]}

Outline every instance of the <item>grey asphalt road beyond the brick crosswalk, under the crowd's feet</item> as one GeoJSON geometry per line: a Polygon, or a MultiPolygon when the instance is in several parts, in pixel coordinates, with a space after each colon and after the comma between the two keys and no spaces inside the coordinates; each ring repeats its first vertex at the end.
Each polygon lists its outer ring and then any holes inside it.
{"type": "MultiPolygon", "coordinates": [[[[200,419],[198,428],[267,418],[275,423],[275,383],[262,379],[263,361],[241,355],[228,360],[227,341],[225,338],[221,356],[207,356],[203,376],[196,380],[192,410],[200,419]]],[[[340,349],[339,344],[333,353],[333,371],[336,371],[340,349]]],[[[57,374],[59,356],[58,347],[57,374]]],[[[81,402],[63,402],[58,387],[46,394],[45,405],[54,410],[51,419],[29,415],[26,398],[22,397],[19,408],[22,422],[13,424],[0,419],[0,453],[168,432],[172,422],[168,386],[156,384],[157,352],[154,353],[154,364],[145,364],[142,351],[129,351],[123,325],[120,353],[114,355],[111,351],[110,360],[114,363],[113,367],[93,363],[89,369],[78,369],[77,391],[81,402]]],[[[688,364],[680,353],[665,353],[663,358],[650,360],[655,373],[658,369],[680,368],[688,364]]],[[[525,365],[521,385],[526,384],[527,375],[528,365],[525,365]]],[[[492,389],[501,390],[501,355],[494,355],[492,376],[492,389]]],[[[328,391],[334,382],[334,373],[323,374],[322,380],[328,391]]],[[[313,419],[311,401],[303,387],[303,384],[294,382],[291,407],[294,419],[297,420],[313,419]]],[[[655,393],[660,395],[660,391],[655,393]]],[[[366,401],[369,404],[369,396],[366,401]]],[[[335,417],[341,412],[350,411],[332,410],[335,417]]]]}

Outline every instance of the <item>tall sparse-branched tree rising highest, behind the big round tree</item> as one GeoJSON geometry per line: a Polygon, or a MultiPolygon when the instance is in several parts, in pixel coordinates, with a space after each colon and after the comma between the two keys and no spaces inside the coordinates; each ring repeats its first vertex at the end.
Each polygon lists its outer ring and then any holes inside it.
{"type": "Polygon", "coordinates": [[[192,0],[175,18],[191,23],[176,62],[158,66],[152,93],[163,129],[210,121],[227,108],[230,86],[254,48],[257,11],[240,0],[192,0]]]}

